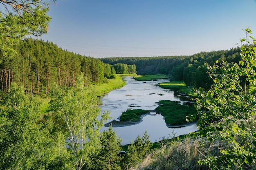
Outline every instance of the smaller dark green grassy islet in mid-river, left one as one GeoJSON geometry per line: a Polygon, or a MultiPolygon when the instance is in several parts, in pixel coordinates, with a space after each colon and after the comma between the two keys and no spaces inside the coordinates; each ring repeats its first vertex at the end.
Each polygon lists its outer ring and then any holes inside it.
{"type": "Polygon", "coordinates": [[[148,110],[127,109],[120,116],[120,121],[140,121],[140,116],[146,113],[148,113],[148,110]]]}

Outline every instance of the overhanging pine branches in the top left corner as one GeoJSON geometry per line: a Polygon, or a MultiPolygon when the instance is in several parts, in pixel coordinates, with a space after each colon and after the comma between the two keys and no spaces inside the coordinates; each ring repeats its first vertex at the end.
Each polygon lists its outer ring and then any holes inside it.
{"type": "Polygon", "coordinates": [[[47,15],[49,1],[1,0],[0,4],[0,54],[2,57],[10,57],[14,52],[13,45],[25,35],[40,36],[47,32],[51,19],[47,15]]]}

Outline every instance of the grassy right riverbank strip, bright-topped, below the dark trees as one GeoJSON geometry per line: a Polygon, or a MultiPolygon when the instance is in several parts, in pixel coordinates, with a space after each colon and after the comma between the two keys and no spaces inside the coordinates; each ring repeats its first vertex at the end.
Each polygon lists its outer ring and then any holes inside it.
{"type": "Polygon", "coordinates": [[[158,86],[161,88],[166,88],[171,90],[179,90],[180,93],[185,93],[190,97],[198,97],[191,86],[186,86],[186,84],[181,81],[159,83],[158,86]]]}

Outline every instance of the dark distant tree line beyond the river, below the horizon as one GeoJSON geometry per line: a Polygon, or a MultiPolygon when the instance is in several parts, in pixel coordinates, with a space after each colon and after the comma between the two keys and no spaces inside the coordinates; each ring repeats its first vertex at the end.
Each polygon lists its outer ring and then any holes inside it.
{"type": "Polygon", "coordinates": [[[216,60],[227,62],[240,61],[240,49],[201,52],[191,56],[163,56],[163,57],[110,57],[100,60],[108,64],[135,64],[138,74],[166,74],[173,80],[183,80],[186,85],[195,88],[209,89],[213,83],[209,79],[207,66],[216,60]]]}

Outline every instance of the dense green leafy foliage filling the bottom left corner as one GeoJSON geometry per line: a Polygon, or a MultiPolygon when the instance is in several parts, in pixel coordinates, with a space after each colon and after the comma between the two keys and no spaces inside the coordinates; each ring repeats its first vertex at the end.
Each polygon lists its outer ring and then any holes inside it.
{"type": "Polygon", "coordinates": [[[50,133],[50,121],[40,121],[39,103],[27,97],[22,87],[12,83],[0,107],[0,169],[48,169],[65,159],[58,142],[63,138],[50,133]]]}

